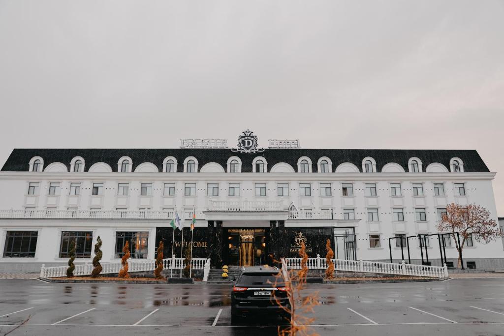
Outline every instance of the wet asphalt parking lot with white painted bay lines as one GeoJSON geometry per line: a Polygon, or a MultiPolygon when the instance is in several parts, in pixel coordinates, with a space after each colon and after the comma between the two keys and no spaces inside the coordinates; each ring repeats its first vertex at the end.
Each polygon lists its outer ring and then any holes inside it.
{"type": "MultiPolygon", "coordinates": [[[[274,335],[284,321],[231,325],[230,286],[2,280],[0,335],[274,335]]],[[[504,280],[309,285],[319,334],[504,335],[504,280]]]]}

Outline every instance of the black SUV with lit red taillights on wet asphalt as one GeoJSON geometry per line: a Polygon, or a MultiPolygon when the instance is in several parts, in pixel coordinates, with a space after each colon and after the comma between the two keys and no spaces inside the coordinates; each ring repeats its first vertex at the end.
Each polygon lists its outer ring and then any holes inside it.
{"type": "Polygon", "coordinates": [[[252,314],[273,314],[290,320],[290,314],[279,306],[290,308],[286,290],[277,267],[243,267],[233,284],[231,320],[252,314]]]}

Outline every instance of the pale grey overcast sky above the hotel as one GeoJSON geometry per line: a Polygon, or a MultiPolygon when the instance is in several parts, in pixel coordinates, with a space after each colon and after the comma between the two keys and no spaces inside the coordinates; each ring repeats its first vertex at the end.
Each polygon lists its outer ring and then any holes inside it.
{"type": "Polygon", "coordinates": [[[0,0],[0,165],[245,128],[261,146],[476,149],[504,216],[503,18],[503,1],[0,0]]]}

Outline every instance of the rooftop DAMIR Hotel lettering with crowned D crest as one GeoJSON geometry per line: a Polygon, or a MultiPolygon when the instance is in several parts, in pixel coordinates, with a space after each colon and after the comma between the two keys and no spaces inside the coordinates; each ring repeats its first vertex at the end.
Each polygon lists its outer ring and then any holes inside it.
{"type": "MultiPolygon", "coordinates": [[[[226,139],[180,139],[180,148],[228,148],[228,146],[226,139]]],[[[268,148],[300,148],[299,139],[268,139],[268,148]]],[[[247,129],[238,137],[238,144],[236,148],[231,148],[231,151],[249,154],[264,152],[264,148],[258,148],[257,136],[247,129]]]]}

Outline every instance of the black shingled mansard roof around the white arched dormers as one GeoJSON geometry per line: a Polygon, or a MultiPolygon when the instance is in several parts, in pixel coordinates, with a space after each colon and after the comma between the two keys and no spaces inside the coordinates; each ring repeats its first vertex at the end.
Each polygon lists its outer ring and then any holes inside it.
{"type": "Polygon", "coordinates": [[[475,150],[397,150],[397,149],[265,149],[262,153],[234,153],[230,149],[15,149],[7,159],[2,171],[28,171],[29,161],[34,156],[44,159],[44,167],[50,163],[61,162],[70,171],[70,162],[76,156],[81,156],[86,162],[85,171],[96,162],[105,162],[113,171],[117,170],[117,161],[122,156],[133,160],[133,169],[144,162],[151,162],[161,172],[163,160],[167,156],[177,159],[177,172],[183,171],[183,161],[188,156],[198,159],[199,168],[206,163],[217,162],[224,169],[231,156],[237,156],[242,162],[242,172],[252,171],[252,160],[264,156],[268,162],[268,171],[279,162],[286,162],[297,170],[297,161],[301,156],[307,156],[312,162],[312,171],[317,171],[319,158],[327,156],[331,159],[334,169],[343,162],[350,162],[361,170],[362,159],[372,157],[376,161],[376,171],[382,171],[384,165],[395,162],[408,171],[408,160],[417,157],[425,169],[433,162],[450,166],[450,159],[460,158],[464,163],[465,172],[488,172],[488,168],[475,150]]]}

